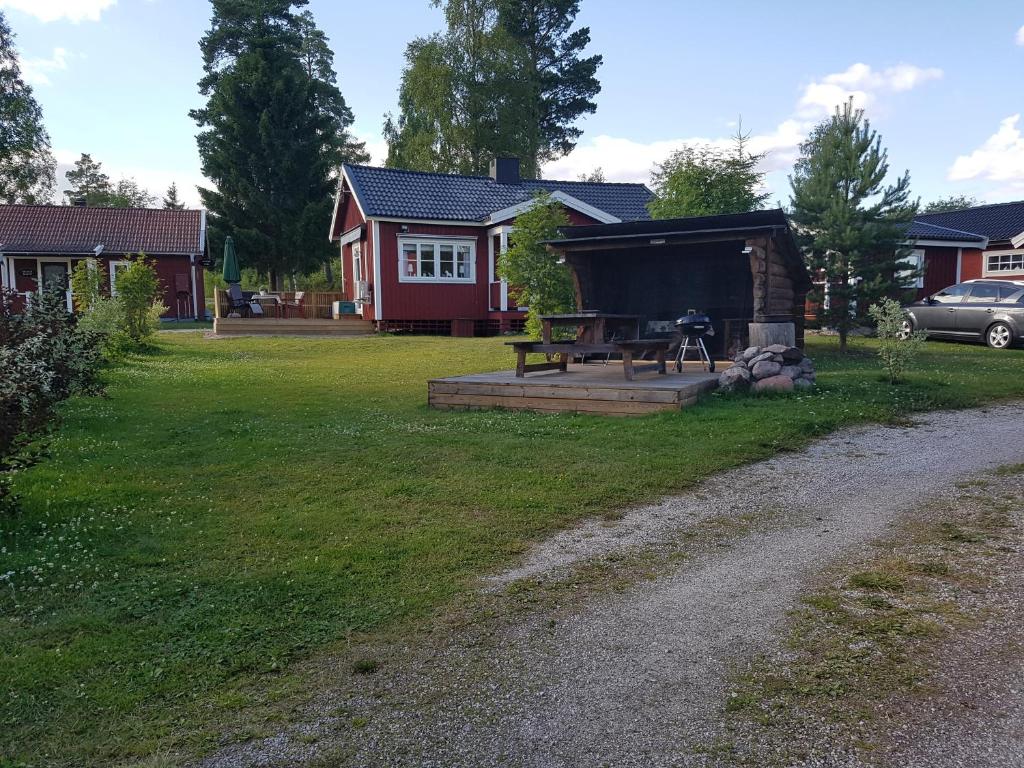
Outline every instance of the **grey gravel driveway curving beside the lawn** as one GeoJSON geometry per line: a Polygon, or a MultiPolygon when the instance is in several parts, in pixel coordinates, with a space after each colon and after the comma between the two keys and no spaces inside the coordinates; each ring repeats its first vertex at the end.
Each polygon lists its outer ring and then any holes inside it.
{"type": "Polygon", "coordinates": [[[558,535],[481,592],[496,605],[540,581],[565,599],[377,648],[383,669],[331,678],[306,724],[205,765],[712,764],[729,670],[777,646],[815,574],[957,481],[1024,463],[1022,435],[1019,406],[846,431],[558,535]],[[761,523],[699,543],[751,513],[761,523]],[[656,579],[573,589],[588,562],[667,547],[687,556],[656,579]]]}

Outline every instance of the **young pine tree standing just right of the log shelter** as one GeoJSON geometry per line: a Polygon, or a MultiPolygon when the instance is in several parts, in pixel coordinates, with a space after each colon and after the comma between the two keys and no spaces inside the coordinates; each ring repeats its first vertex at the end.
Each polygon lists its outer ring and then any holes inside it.
{"type": "Polygon", "coordinates": [[[819,124],[800,152],[790,177],[792,218],[808,266],[824,272],[823,319],[839,331],[845,352],[855,317],[883,297],[899,296],[913,269],[903,242],[918,202],[910,200],[909,172],[885,185],[888,154],[852,100],[819,124]]]}

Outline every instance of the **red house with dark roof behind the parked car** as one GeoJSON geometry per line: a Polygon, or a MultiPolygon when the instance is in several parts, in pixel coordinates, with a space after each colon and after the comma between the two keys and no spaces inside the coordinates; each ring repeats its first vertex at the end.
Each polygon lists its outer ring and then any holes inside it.
{"type": "Polygon", "coordinates": [[[966,280],[1024,280],[1024,201],[925,213],[910,225],[919,297],[966,280]]]}

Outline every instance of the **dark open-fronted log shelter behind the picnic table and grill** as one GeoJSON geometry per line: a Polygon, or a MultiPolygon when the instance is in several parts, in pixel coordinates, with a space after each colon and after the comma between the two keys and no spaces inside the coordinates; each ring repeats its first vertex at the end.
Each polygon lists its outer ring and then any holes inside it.
{"type": "Polygon", "coordinates": [[[780,209],[566,226],[547,246],[572,270],[580,310],[640,315],[643,336],[695,309],[718,354],[803,346],[811,280],[780,209]]]}

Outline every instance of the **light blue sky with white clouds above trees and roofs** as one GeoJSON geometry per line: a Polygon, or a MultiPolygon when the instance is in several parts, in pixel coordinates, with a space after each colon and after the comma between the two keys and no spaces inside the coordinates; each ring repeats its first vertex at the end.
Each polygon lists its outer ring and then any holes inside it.
{"type": "MultiPolygon", "coordinates": [[[[407,43],[441,28],[428,0],[311,0],[330,38],[354,133],[383,163],[407,43]]],[[[208,0],[0,0],[63,172],[81,153],[154,194],[204,184],[188,111],[203,101],[208,0]]],[[[800,141],[852,95],[893,177],[927,202],[1024,199],[1024,6],[1009,0],[582,0],[600,53],[597,112],[567,157],[574,179],[647,182],[688,142],[727,142],[741,120],[772,201],[788,200],[800,141]]]]}

